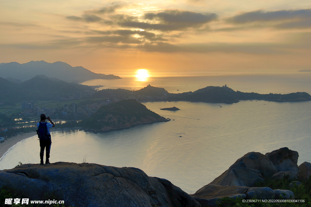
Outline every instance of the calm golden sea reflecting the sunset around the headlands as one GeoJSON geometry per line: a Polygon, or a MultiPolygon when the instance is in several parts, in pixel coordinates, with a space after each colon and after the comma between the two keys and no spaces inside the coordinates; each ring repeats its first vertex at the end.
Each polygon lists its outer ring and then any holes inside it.
{"type": "MultiPolygon", "coordinates": [[[[125,77],[90,80],[85,85],[138,90],[147,85],[168,92],[195,91],[227,85],[257,93],[308,92],[311,73],[210,75],[188,77],[125,77]]],[[[79,130],[54,131],[50,161],[97,163],[135,167],[148,176],[165,178],[187,193],[195,193],[248,152],[266,154],[282,147],[298,151],[298,165],[311,162],[311,101],[239,101],[234,104],[190,101],[143,102],[148,109],[171,119],[121,131],[94,134],[79,130]],[[177,107],[178,111],[160,108],[177,107]]],[[[39,163],[39,141],[34,133],[11,147],[0,159],[0,169],[18,162],[39,163]]]]}

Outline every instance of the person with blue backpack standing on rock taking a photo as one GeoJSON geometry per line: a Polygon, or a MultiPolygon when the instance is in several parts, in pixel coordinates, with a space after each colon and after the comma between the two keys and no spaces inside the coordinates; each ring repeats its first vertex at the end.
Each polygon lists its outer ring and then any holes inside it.
{"type": "Polygon", "coordinates": [[[50,158],[50,149],[51,149],[51,134],[50,134],[50,128],[55,127],[55,124],[51,120],[50,117],[46,117],[45,114],[40,115],[40,122],[37,123],[38,130],[37,134],[40,140],[40,164],[43,165],[43,157],[44,157],[44,148],[46,151],[45,157],[45,164],[51,164],[49,162],[50,158]],[[50,123],[46,122],[46,119],[49,120],[50,123]]]}

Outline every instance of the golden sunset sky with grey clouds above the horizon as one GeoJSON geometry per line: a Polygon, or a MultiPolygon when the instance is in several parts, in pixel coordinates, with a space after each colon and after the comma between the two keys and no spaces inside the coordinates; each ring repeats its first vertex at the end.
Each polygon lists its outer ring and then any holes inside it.
{"type": "Polygon", "coordinates": [[[311,69],[310,0],[2,0],[0,63],[105,73],[311,69]]]}

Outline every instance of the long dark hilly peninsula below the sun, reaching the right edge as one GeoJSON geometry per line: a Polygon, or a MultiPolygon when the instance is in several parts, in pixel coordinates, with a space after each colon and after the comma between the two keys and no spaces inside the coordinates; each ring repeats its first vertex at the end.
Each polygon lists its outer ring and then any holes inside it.
{"type": "Polygon", "coordinates": [[[247,93],[234,91],[227,85],[219,86],[208,86],[205,88],[198,89],[194,92],[184,93],[169,93],[164,88],[156,88],[148,85],[137,91],[130,91],[126,89],[103,89],[93,94],[93,97],[103,97],[115,95],[116,97],[130,97],[140,96],[141,100],[151,98],[152,100],[163,100],[163,101],[202,101],[210,103],[237,103],[241,100],[265,100],[265,101],[310,101],[311,96],[306,92],[296,92],[289,94],[259,94],[259,93],[247,93]]]}

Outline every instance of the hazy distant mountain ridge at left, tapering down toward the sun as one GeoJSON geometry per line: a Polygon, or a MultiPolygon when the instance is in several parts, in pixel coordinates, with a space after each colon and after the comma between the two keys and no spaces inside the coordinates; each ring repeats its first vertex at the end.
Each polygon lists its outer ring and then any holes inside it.
{"type": "Polygon", "coordinates": [[[120,79],[115,75],[93,73],[81,66],[72,67],[64,62],[48,63],[45,61],[30,61],[19,64],[17,62],[1,63],[0,77],[14,78],[21,81],[29,80],[36,75],[46,75],[66,82],[82,83],[91,79],[120,79]]]}

